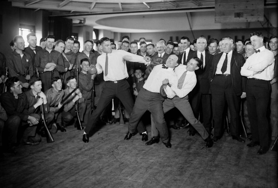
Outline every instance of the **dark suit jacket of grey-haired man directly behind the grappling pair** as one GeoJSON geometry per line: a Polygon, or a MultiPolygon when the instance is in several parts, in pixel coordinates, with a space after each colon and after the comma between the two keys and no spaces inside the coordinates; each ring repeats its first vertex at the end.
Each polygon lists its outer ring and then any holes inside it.
{"type": "MultiPolygon", "coordinates": [[[[193,53],[193,57],[197,57],[197,51],[193,53]]],[[[197,83],[191,93],[201,92],[202,94],[209,94],[210,91],[210,81],[209,81],[209,69],[211,68],[213,55],[209,52],[205,52],[205,67],[195,70],[197,77],[197,83]]],[[[188,58],[187,58],[188,59],[188,58]]]]}

